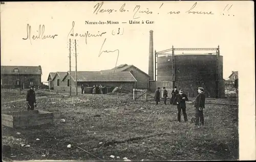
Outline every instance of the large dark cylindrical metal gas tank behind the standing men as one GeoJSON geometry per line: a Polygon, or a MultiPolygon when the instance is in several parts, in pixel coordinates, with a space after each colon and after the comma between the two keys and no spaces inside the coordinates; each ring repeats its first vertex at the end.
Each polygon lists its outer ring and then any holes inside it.
{"type": "MultiPolygon", "coordinates": [[[[219,72],[217,72],[216,59],[216,55],[209,54],[175,55],[175,86],[184,88],[184,93],[189,97],[196,97],[197,88],[203,87],[206,97],[224,98],[223,57],[218,58],[219,72]]],[[[161,82],[173,82],[172,64],[172,56],[158,57],[158,86],[161,86],[161,82]]]]}

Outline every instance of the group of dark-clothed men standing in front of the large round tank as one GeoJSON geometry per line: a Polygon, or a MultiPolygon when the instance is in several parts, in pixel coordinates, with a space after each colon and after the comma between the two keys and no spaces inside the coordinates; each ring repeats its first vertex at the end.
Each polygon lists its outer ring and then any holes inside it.
{"type": "MultiPolygon", "coordinates": [[[[165,89],[165,87],[163,87],[163,98],[164,98],[164,104],[166,105],[166,100],[168,98],[168,92],[165,89]]],[[[160,87],[158,87],[155,92],[155,101],[156,101],[156,105],[160,102],[160,87]]],[[[179,92],[178,92],[177,87],[175,87],[174,90],[172,91],[172,97],[170,98],[170,104],[177,105],[178,122],[181,122],[181,111],[183,113],[184,121],[187,122],[186,101],[188,101],[188,98],[187,98],[187,95],[183,93],[183,88],[179,88],[179,92]]],[[[202,87],[198,88],[198,95],[196,97],[196,100],[194,100],[193,102],[194,102],[194,107],[196,110],[195,125],[199,126],[199,120],[200,120],[201,125],[204,125],[204,115],[203,115],[203,109],[205,109],[204,88],[202,88],[202,87]]]]}

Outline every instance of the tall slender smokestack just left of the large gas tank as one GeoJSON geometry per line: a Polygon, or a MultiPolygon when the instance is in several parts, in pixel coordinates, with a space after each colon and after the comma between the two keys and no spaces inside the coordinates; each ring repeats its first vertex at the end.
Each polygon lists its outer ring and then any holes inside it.
{"type": "Polygon", "coordinates": [[[150,80],[154,80],[154,48],[153,48],[153,31],[150,31],[150,53],[148,56],[148,75],[150,80]]]}

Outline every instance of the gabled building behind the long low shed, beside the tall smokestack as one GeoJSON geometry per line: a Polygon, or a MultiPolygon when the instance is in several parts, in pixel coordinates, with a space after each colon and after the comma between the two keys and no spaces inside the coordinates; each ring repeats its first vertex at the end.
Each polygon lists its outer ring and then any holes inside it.
{"type": "Polygon", "coordinates": [[[140,70],[134,65],[127,65],[127,64],[122,64],[119,65],[115,68],[109,69],[109,70],[101,70],[102,72],[124,72],[128,71],[130,72],[135,79],[137,80],[135,88],[137,89],[148,89],[149,88],[149,80],[150,76],[145,73],[144,71],[140,70]]]}

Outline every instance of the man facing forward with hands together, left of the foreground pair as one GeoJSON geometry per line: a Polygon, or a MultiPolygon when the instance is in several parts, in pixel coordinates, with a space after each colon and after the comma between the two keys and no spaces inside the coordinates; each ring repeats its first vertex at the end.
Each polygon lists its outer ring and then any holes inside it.
{"type": "Polygon", "coordinates": [[[178,108],[178,122],[181,121],[181,110],[183,113],[184,121],[187,122],[187,113],[186,113],[186,102],[188,101],[187,95],[183,93],[183,88],[179,89],[179,93],[175,97],[175,102],[177,103],[178,108]]]}

